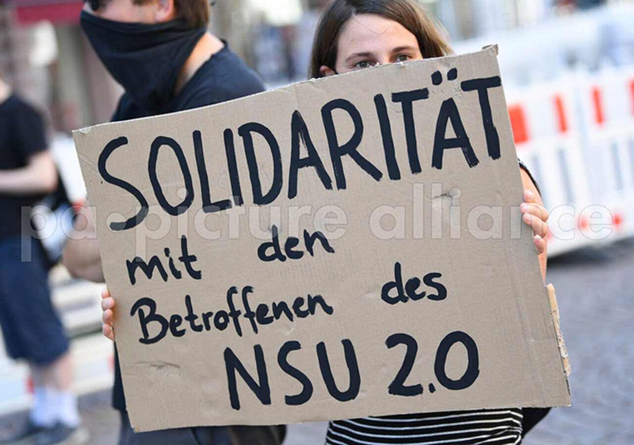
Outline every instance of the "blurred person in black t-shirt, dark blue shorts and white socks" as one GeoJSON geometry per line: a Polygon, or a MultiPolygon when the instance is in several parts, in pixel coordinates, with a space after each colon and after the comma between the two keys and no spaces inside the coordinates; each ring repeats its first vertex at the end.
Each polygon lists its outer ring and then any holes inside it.
{"type": "Polygon", "coordinates": [[[55,191],[57,170],[42,117],[0,77],[0,325],[6,351],[29,362],[34,405],[4,444],[81,444],[68,338],[48,287],[48,266],[33,238],[30,208],[55,191]]]}

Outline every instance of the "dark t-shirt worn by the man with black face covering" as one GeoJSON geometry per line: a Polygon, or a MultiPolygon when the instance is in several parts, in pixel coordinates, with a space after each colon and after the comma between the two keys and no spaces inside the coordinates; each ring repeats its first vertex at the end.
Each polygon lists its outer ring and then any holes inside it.
{"type": "MultiPolygon", "coordinates": [[[[194,74],[181,91],[172,98],[164,110],[143,110],[135,105],[128,94],[119,101],[113,121],[137,119],[153,115],[191,110],[200,106],[213,105],[228,100],[261,93],[264,85],[257,75],[238,58],[227,46],[214,54],[194,74]]],[[[112,389],[112,406],[117,410],[126,409],[126,398],[121,382],[119,358],[115,349],[115,384],[112,389]]]]}

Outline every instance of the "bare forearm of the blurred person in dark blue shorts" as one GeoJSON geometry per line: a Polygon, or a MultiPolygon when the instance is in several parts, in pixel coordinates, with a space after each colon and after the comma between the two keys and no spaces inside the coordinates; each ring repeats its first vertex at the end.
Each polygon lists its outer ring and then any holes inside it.
{"type": "Polygon", "coordinates": [[[5,195],[36,195],[51,193],[57,186],[57,169],[49,152],[29,157],[26,167],[0,171],[0,193],[5,195]]]}

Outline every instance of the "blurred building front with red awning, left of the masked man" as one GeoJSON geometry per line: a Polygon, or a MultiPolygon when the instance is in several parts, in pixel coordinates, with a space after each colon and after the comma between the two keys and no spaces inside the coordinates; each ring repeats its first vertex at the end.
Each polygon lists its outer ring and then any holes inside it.
{"type": "Polygon", "coordinates": [[[79,29],[81,0],[0,3],[0,70],[38,105],[51,132],[105,122],[120,94],[79,29]]]}

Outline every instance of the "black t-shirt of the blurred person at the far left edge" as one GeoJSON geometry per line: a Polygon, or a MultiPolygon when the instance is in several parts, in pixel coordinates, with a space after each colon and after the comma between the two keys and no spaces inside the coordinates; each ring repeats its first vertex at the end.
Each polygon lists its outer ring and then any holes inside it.
{"type": "MultiPolygon", "coordinates": [[[[46,147],[44,124],[36,110],[16,96],[0,103],[0,170],[26,167],[29,158],[46,147]]],[[[37,198],[0,193],[0,240],[23,234],[22,207],[34,205],[37,198]]]]}

